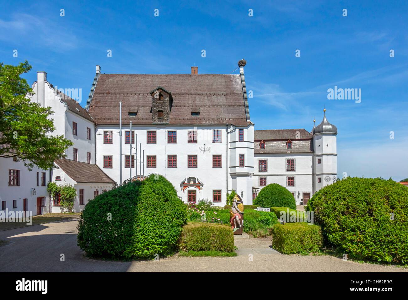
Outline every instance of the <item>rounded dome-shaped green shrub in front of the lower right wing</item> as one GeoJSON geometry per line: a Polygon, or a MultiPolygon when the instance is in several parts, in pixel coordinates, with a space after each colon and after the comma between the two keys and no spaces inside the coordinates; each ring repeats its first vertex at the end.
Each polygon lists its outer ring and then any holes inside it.
{"type": "Polygon", "coordinates": [[[268,184],[261,189],[253,204],[260,207],[289,207],[296,209],[293,195],[288,189],[277,183],[268,184]]]}

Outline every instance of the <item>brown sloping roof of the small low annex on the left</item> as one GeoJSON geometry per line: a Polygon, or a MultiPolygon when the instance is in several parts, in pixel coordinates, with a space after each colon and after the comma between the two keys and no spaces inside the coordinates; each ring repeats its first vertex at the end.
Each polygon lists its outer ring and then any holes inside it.
{"type": "Polygon", "coordinates": [[[66,158],[57,159],[54,162],[76,182],[115,183],[96,164],[75,162],[66,158]]]}

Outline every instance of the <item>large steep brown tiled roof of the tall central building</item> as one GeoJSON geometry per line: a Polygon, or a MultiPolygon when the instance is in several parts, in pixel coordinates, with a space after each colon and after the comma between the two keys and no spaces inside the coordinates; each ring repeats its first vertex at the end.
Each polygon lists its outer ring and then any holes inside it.
{"type": "Polygon", "coordinates": [[[101,74],[89,113],[98,124],[152,124],[151,94],[163,87],[173,96],[170,125],[247,125],[241,77],[225,74],[101,74]],[[137,116],[129,117],[129,109],[137,116]],[[191,116],[191,109],[200,116],[191,116]]]}

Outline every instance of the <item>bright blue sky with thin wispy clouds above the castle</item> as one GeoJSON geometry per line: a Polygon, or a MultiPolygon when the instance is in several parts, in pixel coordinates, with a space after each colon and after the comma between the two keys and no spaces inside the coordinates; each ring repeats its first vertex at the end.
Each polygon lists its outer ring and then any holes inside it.
{"type": "Polygon", "coordinates": [[[326,107],[339,177],[408,177],[407,1],[0,2],[0,61],[27,59],[30,84],[46,71],[59,88],[82,89],[85,106],[96,64],[102,73],[189,73],[194,64],[231,73],[245,58],[255,129],[310,131],[326,107]],[[328,100],[334,86],[361,89],[361,102],[328,100]]]}

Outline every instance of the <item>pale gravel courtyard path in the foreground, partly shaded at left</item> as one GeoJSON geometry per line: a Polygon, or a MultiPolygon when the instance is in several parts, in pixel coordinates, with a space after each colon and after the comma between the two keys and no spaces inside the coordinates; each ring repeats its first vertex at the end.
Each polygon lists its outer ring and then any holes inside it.
{"type": "Polygon", "coordinates": [[[158,261],[109,262],[87,259],[76,244],[78,220],[0,231],[0,271],[408,271],[408,268],[344,262],[333,256],[283,255],[268,238],[235,237],[232,258],[172,256],[158,261]],[[64,261],[61,261],[64,254],[64,261]]]}

